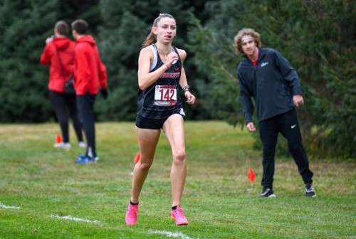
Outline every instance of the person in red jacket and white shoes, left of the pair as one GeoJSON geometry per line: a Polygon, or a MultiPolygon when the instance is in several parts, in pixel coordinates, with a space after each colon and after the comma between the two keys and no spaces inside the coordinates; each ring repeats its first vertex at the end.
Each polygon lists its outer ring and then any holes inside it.
{"type": "Polygon", "coordinates": [[[64,83],[74,71],[75,42],[66,37],[68,32],[68,23],[58,21],[54,27],[54,36],[46,39],[46,47],[40,60],[43,65],[49,65],[49,99],[56,112],[63,139],[62,142],[54,144],[54,147],[70,148],[67,109],[73,121],[79,147],[86,147],[78,118],[75,94],[64,92],[64,83]]]}

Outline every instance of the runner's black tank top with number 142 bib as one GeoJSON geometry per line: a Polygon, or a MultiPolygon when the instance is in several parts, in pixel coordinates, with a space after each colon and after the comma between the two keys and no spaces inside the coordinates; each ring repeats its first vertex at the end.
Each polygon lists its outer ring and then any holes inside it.
{"type": "MultiPolygon", "coordinates": [[[[178,54],[177,48],[172,48],[178,54]]],[[[152,44],[151,49],[154,60],[151,64],[152,70],[150,70],[150,73],[163,65],[155,44],[152,44]]],[[[179,56],[177,62],[172,64],[155,83],[147,87],[146,90],[140,90],[139,88],[137,92],[137,115],[150,119],[163,119],[172,115],[174,110],[182,108],[182,100],[178,97],[181,68],[182,60],[179,56]],[[174,97],[174,92],[176,97],[174,97]]]]}

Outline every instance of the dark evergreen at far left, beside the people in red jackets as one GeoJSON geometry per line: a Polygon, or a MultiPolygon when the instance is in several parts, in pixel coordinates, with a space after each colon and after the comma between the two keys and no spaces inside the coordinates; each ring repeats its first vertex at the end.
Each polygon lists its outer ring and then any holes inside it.
{"type": "Polygon", "coordinates": [[[4,0],[0,5],[0,122],[55,119],[48,100],[48,67],[39,59],[59,20],[100,23],[98,1],[4,0]],[[74,10],[73,10],[74,9],[74,10]]]}

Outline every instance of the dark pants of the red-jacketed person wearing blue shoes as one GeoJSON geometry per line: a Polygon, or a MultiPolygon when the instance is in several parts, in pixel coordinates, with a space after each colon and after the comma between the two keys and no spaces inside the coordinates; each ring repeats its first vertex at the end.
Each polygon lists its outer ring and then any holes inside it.
{"type": "Polygon", "coordinates": [[[85,154],[89,156],[96,154],[94,103],[95,95],[90,95],[88,92],[85,95],[77,95],[79,120],[82,123],[88,144],[85,154]]]}

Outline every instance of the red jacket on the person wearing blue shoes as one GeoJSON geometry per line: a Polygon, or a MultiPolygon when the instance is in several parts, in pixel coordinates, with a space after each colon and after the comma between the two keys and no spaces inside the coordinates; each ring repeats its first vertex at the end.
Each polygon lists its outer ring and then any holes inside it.
{"type": "Polygon", "coordinates": [[[98,94],[99,87],[106,89],[108,75],[106,67],[100,60],[98,47],[90,35],[84,35],[77,39],[75,46],[75,70],[74,85],[77,95],[89,92],[98,94]]]}

